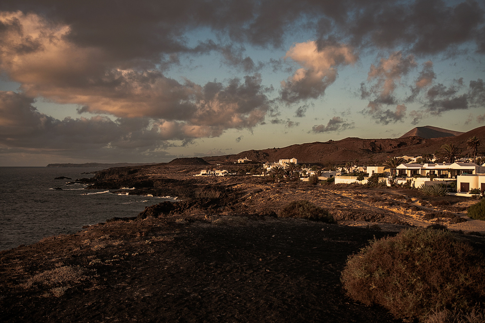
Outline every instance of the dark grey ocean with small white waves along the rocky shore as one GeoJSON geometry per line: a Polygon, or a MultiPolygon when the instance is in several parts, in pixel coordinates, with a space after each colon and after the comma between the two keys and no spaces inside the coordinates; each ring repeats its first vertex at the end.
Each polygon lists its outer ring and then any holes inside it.
{"type": "MultiPolygon", "coordinates": [[[[0,167],[0,250],[75,233],[109,218],[136,216],[171,197],[113,194],[67,184],[99,168],[0,167]],[[72,180],[56,180],[56,177],[72,180]],[[61,188],[61,189],[56,189],[61,188]]],[[[124,189],[124,194],[130,191],[124,189]]]]}

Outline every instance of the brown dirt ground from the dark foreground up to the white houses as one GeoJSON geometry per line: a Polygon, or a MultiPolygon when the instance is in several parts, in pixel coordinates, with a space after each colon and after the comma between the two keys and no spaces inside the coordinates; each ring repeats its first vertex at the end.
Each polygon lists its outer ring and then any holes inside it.
{"type": "MultiPolygon", "coordinates": [[[[401,322],[345,296],[347,257],[410,226],[469,224],[466,209],[476,202],[401,188],[197,181],[224,186],[224,204],[1,251],[0,321],[401,322]],[[338,224],[278,218],[292,200],[328,209],[338,224]]],[[[483,247],[479,222],[463,237],[483,247]]]]}

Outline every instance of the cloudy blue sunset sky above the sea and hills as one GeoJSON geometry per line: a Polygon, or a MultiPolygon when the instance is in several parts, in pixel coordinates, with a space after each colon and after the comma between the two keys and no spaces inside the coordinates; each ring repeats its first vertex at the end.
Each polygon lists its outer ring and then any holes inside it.
{"type": "Polygon", "coordinates": [[[0,166],[466,132],[484,78],[483,1],[3,0],[0,166]]]}

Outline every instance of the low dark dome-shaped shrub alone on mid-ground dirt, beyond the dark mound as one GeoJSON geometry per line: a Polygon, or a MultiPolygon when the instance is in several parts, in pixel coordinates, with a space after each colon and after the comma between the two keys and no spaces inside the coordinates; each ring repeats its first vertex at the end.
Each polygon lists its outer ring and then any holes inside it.
{"type": "Polygon", "coordinates": [[[292,201],[279,211],[278,216],[335,223],[333,216],[327,210],[323,210],[307,200],[292,201]]]}

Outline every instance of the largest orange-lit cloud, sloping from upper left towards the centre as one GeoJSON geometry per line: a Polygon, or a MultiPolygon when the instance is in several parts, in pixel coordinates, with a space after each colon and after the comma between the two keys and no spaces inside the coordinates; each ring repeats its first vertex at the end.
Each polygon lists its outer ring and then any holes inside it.
{"type": "MultiPolygon", "coordinates": [[[[71,28],[38,15],[2,13],[0,67],[30,97],[83,106],[80,112],[153,118],[177,124],[175,138],[220,136],[264,120],[269,100],[260,75],[204,86],[165,77],[157,69],[110,67],[99,48],[70,41],[71,28]]],[[[164,130],[164,126],[161,126],[164,130]]]]}

